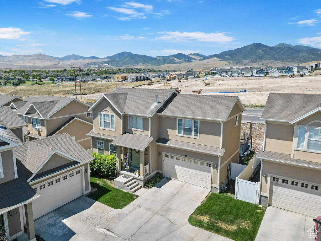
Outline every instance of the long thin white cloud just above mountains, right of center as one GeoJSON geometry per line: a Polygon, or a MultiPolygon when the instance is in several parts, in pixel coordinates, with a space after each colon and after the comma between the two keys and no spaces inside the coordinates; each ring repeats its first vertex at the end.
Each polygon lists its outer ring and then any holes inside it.
{"type": "Polygon", "coordinates": [[[226,36],[224,33],[204,33],[204,32],[159,32],[162,36],[157,37],[159,40],[179,41],[200,41],[200,42],[217,42],[225,43],[235,40],[233,37],[226,36]]]}

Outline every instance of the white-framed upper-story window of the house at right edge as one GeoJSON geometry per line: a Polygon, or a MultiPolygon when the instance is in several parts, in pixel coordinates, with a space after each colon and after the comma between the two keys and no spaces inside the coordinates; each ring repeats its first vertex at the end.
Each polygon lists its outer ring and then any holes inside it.
{"type": "Polygon", "coordinates": [[[321,129],[299,127],[297,148],[321,151],[321,129]]]}

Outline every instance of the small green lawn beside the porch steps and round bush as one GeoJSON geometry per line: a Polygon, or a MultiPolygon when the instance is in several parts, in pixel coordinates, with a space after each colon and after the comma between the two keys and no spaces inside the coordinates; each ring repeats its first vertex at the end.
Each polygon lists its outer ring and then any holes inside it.
{"type": "Polygon", "coordinates": [[[124,192],[112,187],[110,185],[111,181],[106,179],[91,177],[90,182],[91,187],[97,188],[97,191],[89,194],[87,197],[114,209],[122,209],[138,197],[133,193],[124,192]]]}

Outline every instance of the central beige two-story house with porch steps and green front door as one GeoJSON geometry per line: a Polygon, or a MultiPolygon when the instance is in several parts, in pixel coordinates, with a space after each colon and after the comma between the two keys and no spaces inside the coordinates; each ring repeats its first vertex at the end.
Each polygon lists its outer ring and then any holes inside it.
{"type": "Polygon", "coordinates": [[[92,151],[116,154],[117,173],[139,183],[131,191],[161,173],[219,192],[238,162],[244,107],[237,96],[116,88],[89,111],[92,151]]]}

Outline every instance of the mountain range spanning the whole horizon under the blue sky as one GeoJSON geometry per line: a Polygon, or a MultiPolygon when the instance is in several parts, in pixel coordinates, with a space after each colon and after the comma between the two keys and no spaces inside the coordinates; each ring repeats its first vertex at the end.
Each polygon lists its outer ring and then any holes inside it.
{"type": "MultiPolygon", "coordinates": [[[[286,65],[300,64],[311,61],[321,61],[321,49],[304,45],[291,45],[279,43],[274,46],[262,43],[253,43],[238,49],[228,50],[219,54],[203,55],[199,53],[173,54],[169,56],[147,56],[131,52],[121,52],[105,58],[96,56],[84,57],[81,55],[67,55],[64,57],[53,57],[45,54],[33,55],[0,55],[0,67],[14,67],[22,65],[25,67],[50,66],[70,67],[70,64],[80,64],[83,67],[99,64],[109,64],[114,67],[125,66],[185,66],[208,67],[256,63],[259,65],[286,65]]],[[[273,66],[274,66],[273,65],[273,66]]]]}

